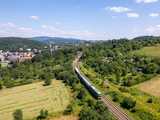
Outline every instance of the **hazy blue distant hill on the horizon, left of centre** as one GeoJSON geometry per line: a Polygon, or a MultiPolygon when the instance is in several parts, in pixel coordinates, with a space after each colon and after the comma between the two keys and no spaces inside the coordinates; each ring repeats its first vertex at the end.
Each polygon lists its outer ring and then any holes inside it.
{"type": "Polygon", "coordinates": [[[61,38],[61,37],[47,37],[47,36],[33,37],[31,39],[43,43],[54,43],[54,44],[78,44],[84,42],[84,40],[75,38],[61,38]]]}

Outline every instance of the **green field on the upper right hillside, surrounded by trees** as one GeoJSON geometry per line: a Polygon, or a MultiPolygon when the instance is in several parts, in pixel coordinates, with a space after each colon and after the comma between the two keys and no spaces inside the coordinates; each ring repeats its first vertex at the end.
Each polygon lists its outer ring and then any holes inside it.
{"type": "Polygon", "coordinates": [[[134,51],[134,53],[152,57],[160,57],[160,45],[144,47],[140,50],[134,51]]]}

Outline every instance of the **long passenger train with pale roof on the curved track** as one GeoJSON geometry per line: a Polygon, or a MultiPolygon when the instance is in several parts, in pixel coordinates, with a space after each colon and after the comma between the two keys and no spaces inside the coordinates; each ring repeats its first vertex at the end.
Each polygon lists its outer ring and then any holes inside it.
{"type": "Polygon", "coordinates": [[[77,67],[75,67],[75,72],[78,75],[78,78],[80,79],[81,83],[88,89],[88,91],[92,94],[92,96],[96,99],[100,98],[101,96],[101,92],[99,90],[97,90],[90,82],[89,80],[84,77],[79,69],[77,67]]]}

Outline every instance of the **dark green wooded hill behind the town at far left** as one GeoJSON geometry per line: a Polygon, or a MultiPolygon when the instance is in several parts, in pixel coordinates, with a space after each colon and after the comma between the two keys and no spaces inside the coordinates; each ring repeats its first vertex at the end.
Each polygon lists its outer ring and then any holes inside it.
{"type": "Polygon", "coordinates": [[[0,37],[0,49],[17,50],[18,48],[41,48],[44,43],[27,38],[0,37]]]}

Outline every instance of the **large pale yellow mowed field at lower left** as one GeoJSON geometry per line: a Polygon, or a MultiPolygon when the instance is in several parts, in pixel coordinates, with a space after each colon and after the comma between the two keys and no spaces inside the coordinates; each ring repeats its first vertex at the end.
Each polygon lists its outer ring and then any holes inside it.
{"type": "Polygon", "coordinates": [[[62,112],[70,102],[69,89],[58,80],[52,85],[43,82],[0,91],[0,120],[12,120],[12,113],[22,109],[25,120],[36,117],[41,109],[49,113],[62,112]]]}

